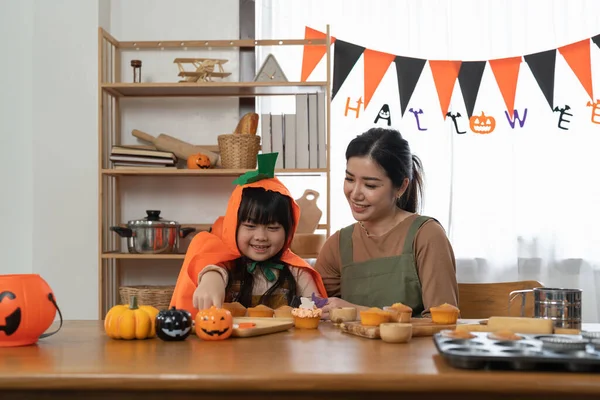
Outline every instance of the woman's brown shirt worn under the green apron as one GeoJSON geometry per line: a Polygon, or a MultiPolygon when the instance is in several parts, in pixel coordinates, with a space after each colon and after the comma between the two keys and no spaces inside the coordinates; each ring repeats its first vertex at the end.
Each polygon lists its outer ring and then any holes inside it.
{"type": "MultiPolygon", "coordinates": [[[[358,223],[354,224],[352,246],[354,262],[398,256],[410,225],[418,215],[412,215],[381,236],[367,236],[358,223]]],[[[425,222],[415,237],[414,254],[417,274],[423,290],[424,314],[443,303],[458,307],[456,260],[446,232],[435,220],[425,222]]],[[[334,233],[323,245],[315,264],[329,297],[341,295],[340,232],[334,233]]],[[[361,304],[359,304],[361,305],[361,304]]]]}

